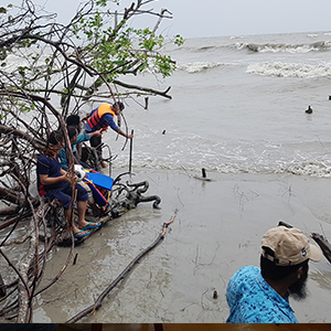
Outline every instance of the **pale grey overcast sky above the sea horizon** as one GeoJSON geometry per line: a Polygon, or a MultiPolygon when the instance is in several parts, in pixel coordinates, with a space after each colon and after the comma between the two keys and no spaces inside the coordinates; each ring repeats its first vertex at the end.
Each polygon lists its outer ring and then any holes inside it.
{"type": "MultiPolygon", "coordinates": [[[[131,3],[134,0],[124,0],[131,3]]],[[[21,3],[21,0],[1,0],[21,3]]],[[[67,22],[81,0],[33,0],[67,22]]],[[[146,9],[167,8],[173,19],[159,32],[183,38],[331,31],[331,0],[158,0],[146,9]]]]}

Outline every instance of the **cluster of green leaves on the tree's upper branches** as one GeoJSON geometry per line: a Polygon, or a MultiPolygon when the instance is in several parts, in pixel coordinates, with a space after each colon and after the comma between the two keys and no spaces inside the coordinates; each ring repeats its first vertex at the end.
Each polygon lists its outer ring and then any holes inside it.
{"type": "MultiPolygon", "coordinates": [[[[113,1],[119,4],[119,1],[113,1]]],[[[106,0],[96,2],[105,7],[106,0]]],[[[96,11],[93,15],[82,17],[73,26],[77,39],[87,44],[85,51],[90,53],[92,63],[98,72],[107,73],[108,78],[119,75],[141,72],[149,68],[163,77],[170,76],[175,70],[174,61],[160,53],[164,45],[164,36],[156,34],[149,28],[134,29],[121,20],[116,26],[110,26],[115,12],[96,11]]],[[[184,40],[178,34],[173,43],[182,45],[184,40]]],[[[110,78],[110,81],[111,81],[110,78]]]]}

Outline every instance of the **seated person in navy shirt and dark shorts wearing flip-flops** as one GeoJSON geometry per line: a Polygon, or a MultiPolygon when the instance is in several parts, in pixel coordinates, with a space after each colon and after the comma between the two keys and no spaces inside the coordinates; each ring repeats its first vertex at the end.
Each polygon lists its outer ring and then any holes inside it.
{"type": "Polygon", "coordinates": [[[51,132],[45,152],[38,159],[38,190],[41,196],[51,200],[57,199],[65,210],[66,221],[72,226],[75,238],[83,238],[89,235],[89,228],[98,227],[100,223],[88,223],[85,221],[88,194],[77,183],[75,183],[75,190],[77,191],[78,227],[74,223],[74,217],[70,220],[68,207],[71,205],[73,188],[68,173],[61,168],[58,160],[58,150],[63,146],[64,137],[62,131],[56,130],[51,132]]]}

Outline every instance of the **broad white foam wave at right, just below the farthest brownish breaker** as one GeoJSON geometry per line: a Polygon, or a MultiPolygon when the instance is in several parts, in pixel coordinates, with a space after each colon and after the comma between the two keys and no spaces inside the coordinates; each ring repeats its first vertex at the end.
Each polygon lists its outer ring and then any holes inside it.
{"type": "Polygon", "coordinates": [[[300,64],[300,63],[252,63],[246,73],[261,76],[316,78],[331,76],[330,64],[300,64]]]}

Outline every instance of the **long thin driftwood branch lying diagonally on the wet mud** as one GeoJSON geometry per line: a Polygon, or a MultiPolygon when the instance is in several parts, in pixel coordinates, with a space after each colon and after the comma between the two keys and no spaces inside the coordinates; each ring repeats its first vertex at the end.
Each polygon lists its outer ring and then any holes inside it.
{"type": "Polygon", "coordinates": [[[174,215],[171,217],[171,220],[168,223],[164,223],[162,226],[162,232],[159,234],[157,239],[148,246],[146,249],[143,249],[125,269],[120,275],[99,295],[97,300],[95,301],[94,305],[89,306],[88,308],[84,309],[79,313],[77,313],[75,317],[71,318],[66,323],[74,323],[81,320],[82,318],[86,317],[90,312],[94,312],[98,310],[102,305],[104,299],[108,296],[108,293],[122,280],[125,279],[128,274],[131,271],[135,265],[139,264],[140,259],[147,255],[151,249],[153,249],[163,238],[167,233],[167,227],[174,221],[174,217],[177,215],[177,211],[174,212],[174,215]]]}

